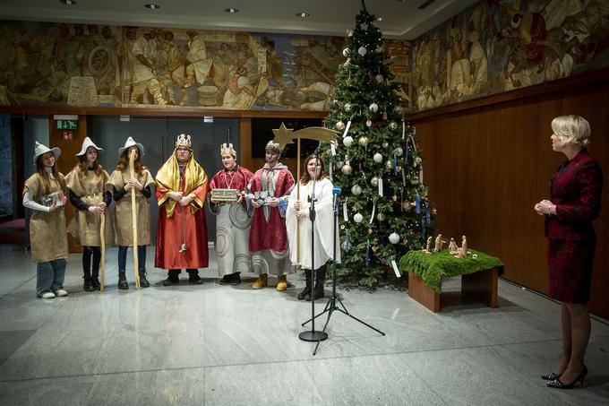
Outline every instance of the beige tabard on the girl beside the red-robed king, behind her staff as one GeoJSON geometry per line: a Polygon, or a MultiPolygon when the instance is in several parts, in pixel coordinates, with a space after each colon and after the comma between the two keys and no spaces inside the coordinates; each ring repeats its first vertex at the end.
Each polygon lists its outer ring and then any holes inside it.
{"type": "MultiPolygon", "coordinates": [[[[115,170],[107,181],[106,190],[114,193],[124,189],[131,175],[129,169],[115,170]],[[114,187],[114,190],[113,190],[114,187]]],[[[142,175],[137,176],[142,186],[154,185],[154,178],[148,169],[143,169],[142,175]]],[[[142,192],[135,188],[135,204],[137,204],[137,243],[138,246],[150,244],[150,199],[144,197],[142,192]]],[[[114,229],[117,246],[133,246],[133,228],[131,217],[131,191],[128,190],[123,198],[116,202],[114,229]],[[118,220],[120,219],[120,220],[118,220]]]]}

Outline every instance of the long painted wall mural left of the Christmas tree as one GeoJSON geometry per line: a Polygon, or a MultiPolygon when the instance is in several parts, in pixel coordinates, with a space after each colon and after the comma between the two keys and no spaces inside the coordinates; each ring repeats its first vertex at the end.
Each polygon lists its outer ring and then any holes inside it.
{"type": "Polygon", "coordinates": [[[0,105],[326,110],[344,39],[0,22],[0,105]]]}

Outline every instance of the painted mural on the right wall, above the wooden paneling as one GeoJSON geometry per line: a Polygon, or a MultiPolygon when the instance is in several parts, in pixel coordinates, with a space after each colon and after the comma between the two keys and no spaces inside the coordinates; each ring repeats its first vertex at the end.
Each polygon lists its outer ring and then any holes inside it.
{"type": "Polygon", "coordinates": [[[609,66],[606,0],[487,0],[413,43],[411,111],[609,66]]]}

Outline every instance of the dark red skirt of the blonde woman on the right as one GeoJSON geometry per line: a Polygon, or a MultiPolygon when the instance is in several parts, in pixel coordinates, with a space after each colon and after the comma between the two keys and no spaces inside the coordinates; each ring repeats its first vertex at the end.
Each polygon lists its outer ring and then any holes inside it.
{"type": "Polygon", "coordinates": [[[596,236],[580,241],[548,240],[550,298],[565,303],[588,303],[596,236]]]}

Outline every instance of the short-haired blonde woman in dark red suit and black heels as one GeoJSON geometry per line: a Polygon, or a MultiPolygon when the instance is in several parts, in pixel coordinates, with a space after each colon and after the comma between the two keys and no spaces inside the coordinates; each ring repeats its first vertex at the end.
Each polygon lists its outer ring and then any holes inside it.
{"type": "Polygon", "coordinates": [[[586,146],[590,125],[579,116],[552,121],[553,151],[567,159],[550,180],[550,200],[535,205],[545,215],[550,268],[549,295],[562,302],[562,358],[550,374],[548,386],[570,388],[584,384],[588,368],[584,355],[590,338],[590,279],[596,247],[592,220],[601,210],[603,173],[586,146]]]}

